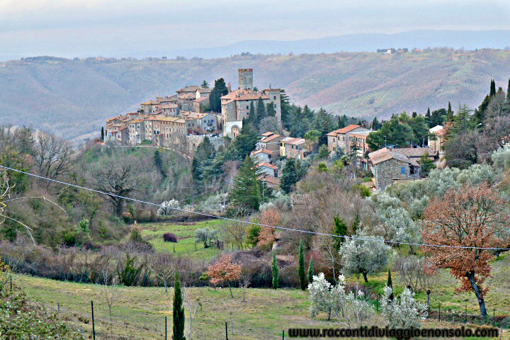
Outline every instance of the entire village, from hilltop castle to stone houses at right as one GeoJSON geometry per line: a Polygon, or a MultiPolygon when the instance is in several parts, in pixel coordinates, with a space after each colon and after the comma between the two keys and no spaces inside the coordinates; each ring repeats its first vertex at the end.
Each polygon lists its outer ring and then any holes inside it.
{"type": "MultiPolygon", "coordinates": [[[[261,131],[251,158],[263,174],[261,181],[269,188],[278,188],[281,169],[278,169],[277,161],[282,158],[305,159],[308,154],[318,151],[320,143],[314,138],[293,137],[283,129],[281,89],[259,91],[254,86],[253,69],[239,69],[238,72],[237,89],[232,90],[228,83],[218,94],[204,81],[201,86],[186,86],[174,95],[141,103],[136,112],[106,120],[105,142],[126,146],[154,145],[191,156],[205,137],[215,147],[222,145],[225,138],[235,139],[243,123],[250,119],[250,113],[254,115],[262,105],[266,115],[276,119],[276,126],[273,131],[261,131]],[[212,110],[213,101],[219,103],[219,112],[212,110]]],[[[367,138],[380,124],[360,121],[359,124],[344,125],[327,133],[324,142],[327,142],[328,157],[348,156],[358,169],[372,174],[372,181],[364,183],[365,186],[378,190],[395,181],[422,178],[419,162],[422,157],[435,163],[434,166],[441,166],[441,137],[445,132],[442,125],[431,127],[421,145],[410,142],[397,147],[396,143],[385,140],[377,149],[369,147],[367,138]]]]}

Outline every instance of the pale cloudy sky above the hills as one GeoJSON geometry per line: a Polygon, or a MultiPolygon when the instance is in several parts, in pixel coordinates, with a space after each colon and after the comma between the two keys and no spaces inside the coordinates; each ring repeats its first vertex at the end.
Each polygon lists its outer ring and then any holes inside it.
{"type": "Polygon", "coordinates": [[[510,29],[510,1],[0,0],[4,59],[148,57],[242,40],[419,29],[510,29]]]}

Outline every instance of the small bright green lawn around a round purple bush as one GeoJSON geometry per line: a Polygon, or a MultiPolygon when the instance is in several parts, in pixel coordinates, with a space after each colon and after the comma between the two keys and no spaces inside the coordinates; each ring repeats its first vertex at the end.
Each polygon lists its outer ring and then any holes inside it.
{"type": "Polygon", "coordinates": [[[217,254],[219,250],[215,247],[204,248],[202,242],[195,244],[195,230],[208,227],[215,229],[222,224],[221,220],[207,220],[191,223],[144,223],[139,226],[142,228],[142,237],[149,241],[156,251],[175,251],[177,254],[191,256],[195,259],[210,259],[217,254]],[[175,234],[178,241],[176,244],[163,241],[163,234],[171,232],[175,234]]]}

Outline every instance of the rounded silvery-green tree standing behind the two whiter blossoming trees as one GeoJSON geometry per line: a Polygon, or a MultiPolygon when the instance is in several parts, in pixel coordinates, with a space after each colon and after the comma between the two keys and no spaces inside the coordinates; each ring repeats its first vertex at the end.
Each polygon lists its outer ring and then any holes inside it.
{"type": "Polygon", "coordinates": [[[365,282],[367,275],[384,271],[388,265],[391,247],[378,236],[370,236],[361,231],[356,239],[349,239],[342,244],[339,253],[344,261],[344,273],[361,274],[365,282]]]}

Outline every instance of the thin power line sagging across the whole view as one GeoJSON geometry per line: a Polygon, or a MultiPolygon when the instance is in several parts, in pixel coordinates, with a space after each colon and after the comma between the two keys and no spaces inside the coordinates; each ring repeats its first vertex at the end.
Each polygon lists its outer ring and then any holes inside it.
{"type": "Polygon", "coordinates": [[[93,189],[93,188],[86,188],[84,186],[78,186],[76,184],[67,183],[67,182],[63,182],[63,181],[58,181],[57,179],[49,179],[49,178],[44,177],[44,176],[39,176],[39,175],[36,175],[36,174],[30,174],[30,172],[21,171],[21,170],[18,170],[18,169],[13,169],[13,168],[10,168],[8,166],[1,165],[1,164],[0,164],[0,168],[6,169],[6,170],[10,170],[10,171],[16,171],[16,172],[18,172],[20,174],[26,174],[28,176],[33,176],[33,177],[38,178],[38,179],[45,179],[46,181],[52,181],[54,183],[60,183],[60,184],[63,184],[64,186],[72,186],[74,188],[79,188],[79,189],[83,189],[83,190],[86,190],[86,191],[91,191],[91,192],[94,192],[94,193],[100,193],[101,195],[121,198],[123,200],[130,200],[132,202],[137,202],[137,203],[142,203],[142,204],[147,204],[147,205],[154,205],[154,206],[157,206],[157,207],[160,207],[160,208],[177,210],[177,211],[181,211],[181,212],[188,212],[188,213],[191,213],[191,214],[196,214],[196,215],[202,215],[202,216],[205,216],[205,217],[216,218],[218,220],[227,220],[227,221],[232,221],[232,222],[240,222],[240,223],[244,223],[246,225],[259,225],[261,227],[268,227],[268,228],[275,228],[275,229],[281,229],[281,230],[288,230],[290,232],[302,232],[302,233],[305,233],[305,234],[316,234],[316,235],[321,235],[321,236],[340,237],[340,238],[344,238],[344,239],[353,239],[353,240],[354,239],[358,239],[358,240],[361,240],[361,241],[370,241],[370,242],[383,242],[383,243],[387,243],[387,244],[406,244],[406,245],[409,245],[409,246],[430,246],[430,247],[436,247],[436,248],[455,248],[455,249],[510,250],[510,248],[496,248],[496,247],[482,247],[482,246],[452,246],[452,245],[449,245],[449,244],[423,244],[423,243],[412,243],[412,242],[393,242],[393,241],[387,241],[385,239],[370,239],[368,237],[353,237],[353,236],[346,236],[346,235],[334,235],[334,234],[327,234],[325,232],[311,232],[310,230],[294,229],[294,228],[288,228],[288,227],[276,227],[276,226],[273,226],[273,225],[263,225],[261,223],[256,223],[256,222],[249,222],[249,221],[243,221],[243,220],[236,220],[234,218],[229,218],[229,217],[210,215],[210,214],[206,214],[204,212],[196,212],[196,211],[185,210],[185,209],[181,209],[181,208],[164,207],[164,205],[162,205],[162,204],[147,202],[145,200],[138,200],[136,198],[130,198],[130,197],[125,197],[125,196],[115,195],[113,193],[106,193],[104,191],[99,191],[99,190],[96,190],[96,189],[93,189]]]}

